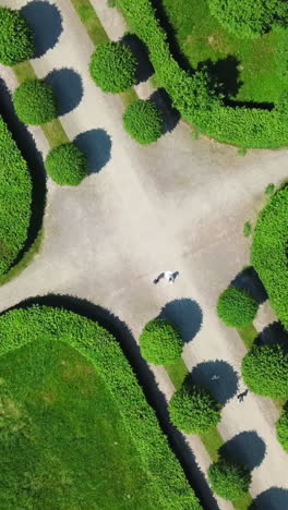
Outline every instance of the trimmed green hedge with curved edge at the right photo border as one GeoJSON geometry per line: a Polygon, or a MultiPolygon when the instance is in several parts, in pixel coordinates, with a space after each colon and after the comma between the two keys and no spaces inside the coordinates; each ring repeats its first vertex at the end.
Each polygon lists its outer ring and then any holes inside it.
{"type": "Polygon", "coordinates": [[[259,215],[251,260],[276,315],[288,330],[288,186],[275,193],[259,215]]]}

